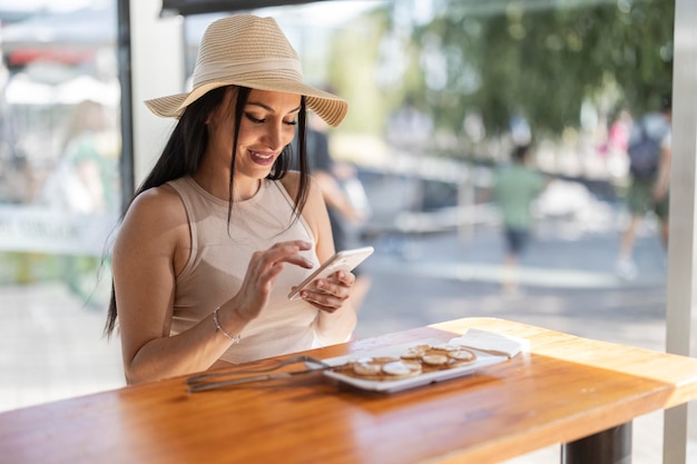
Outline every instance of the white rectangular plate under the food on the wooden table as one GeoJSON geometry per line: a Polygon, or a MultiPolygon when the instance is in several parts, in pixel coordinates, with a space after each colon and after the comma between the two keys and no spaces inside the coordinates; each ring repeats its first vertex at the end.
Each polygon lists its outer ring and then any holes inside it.
{"type": "MultiPolygon", "coordinates": [[[[353,353],[346,356],[331,357],[328,359],[322,359],[322,361],[324,361],[325,363],[332,366],[341,366],[342,364],[346,364],[351,361],[361,359],[364,357],[372,357],[372,356],[400,357],[400,355],[403,354],[408,348],[412,346],[416,346],[416,345],[443,345],[443,342],[429,338],[429,339],[423,339],[419,342],[405,343],[402,345],[394,345],[394,346],[387,346],[387,347],[379,348],[379,349],[353,353]]],[[[401,378],[396,381],[369,381],[365,378],[352,377],[350,375],[344,375],[344,374],[333,372],[333,371],[325,371],[324,375],[326,375],[327,377],[335,378],[342,383],[352,385],[356,388],[372,391],[372,392],[391,393],[391,392],[400,392],[402,389],[413,388],[413,387],[418,387],[422,385],[428,385],[428,384],[432,384],[435,382],[442,382],[449,378],[461,377],[463,375],[472,374],[474,371],[481,367],[491,366],[493,364],[499,364],[499,363],[503,363],[508,361],[508,357],[505,356],[495,356],[489,353],[482,353],[474,348],[469,348],[469,349],[477,353],[477,361],[474,361],[471,364],[467,364],[460,367],[453,367],[450,369],[434,371],[434,372],[421,374],[414,377],[401,378]]]]}

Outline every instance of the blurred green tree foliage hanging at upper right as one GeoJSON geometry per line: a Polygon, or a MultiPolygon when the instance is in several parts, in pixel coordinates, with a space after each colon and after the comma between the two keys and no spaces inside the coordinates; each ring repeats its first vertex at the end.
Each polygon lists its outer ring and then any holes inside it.
{"type": "MultiPolygon", "coordinates": [[[[405,3],[392,6],[391,40],[404,37],[395,14],[416,10],[415,2],[405,3]]],[[[384,90],[414,101],[436,128],[461,135],[465,116],[474,112],[488,137],[505,134],[513,116],[524,118],[533,134],[559,136],[580,126],[586,102],[639,113],[670,92],[670,0],[589,0],[558,8],[491,0],[490,7],[501,6],[498,11],[471,0],[432,3],[426,21],[412,17],[401,83],[384,90]]]]}

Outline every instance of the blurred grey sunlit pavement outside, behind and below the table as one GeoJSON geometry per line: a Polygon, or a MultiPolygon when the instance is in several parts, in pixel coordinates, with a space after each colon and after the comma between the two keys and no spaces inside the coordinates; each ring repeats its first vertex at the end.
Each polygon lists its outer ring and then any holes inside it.
{"type": "MultiPolygon", "coordinates": [[[[503,243],[493,228],[469,239],[454,234],[383,239],[365,263],[372,287],[359,315],[359,338],[468,316],[492,316],[582,337],[665,351],[666,260],[657,236],[645,230],[631,283],[615,270],[618,231],[612,227],[566,234],[579,225],[543,224],[522,260],[524,290],[500,292],[503,243]]],[[[690,411],[690,424],[697,424],[690,411]]],[[[635,464],[662,461],[662,412],[634,421],[635,464]]],[[[697,464],[697,430],[688,431],[688,464],[697,464]]],[[[507,464],[559,463],[560,447],[507,464]]]]}

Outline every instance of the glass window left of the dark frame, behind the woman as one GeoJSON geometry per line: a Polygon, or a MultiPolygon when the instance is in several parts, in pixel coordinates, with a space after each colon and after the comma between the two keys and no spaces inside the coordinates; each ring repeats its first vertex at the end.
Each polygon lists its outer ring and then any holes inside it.
{"type": "Polygon", "coordinates": [[[116,1],[59,3],[0,9],[0,409],[124,384],[100,338],[121,205],[116,1]]]}

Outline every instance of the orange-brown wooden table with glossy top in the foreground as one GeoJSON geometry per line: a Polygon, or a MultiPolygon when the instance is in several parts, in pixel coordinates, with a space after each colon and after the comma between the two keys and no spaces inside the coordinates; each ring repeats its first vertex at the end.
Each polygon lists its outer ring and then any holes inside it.
{"type": "Polygon", "coordinates": [[[526,337],[530,353],[395,394],[311,374],[195,394],[174,378],[48,403],[0,414],[2,461],[484,464],[570,443],[580,445],[570,445],[562,460],[595,464],[609,458],[585,455],[587,440],[610,436],[615,446],[617,434],[607,431],[697,398],[697,359],[494,318],[307,353],[327,358],[424,338],[445,342],[470,327],[526,337]]]}

